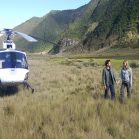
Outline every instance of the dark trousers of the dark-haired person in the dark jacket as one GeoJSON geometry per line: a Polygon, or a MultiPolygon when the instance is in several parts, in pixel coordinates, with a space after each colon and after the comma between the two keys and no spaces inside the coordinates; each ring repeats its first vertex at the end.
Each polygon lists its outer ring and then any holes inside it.
{"type": "Polygon", "coordinates": [[[108,98],[108,97],[109,97],[109,90],[110,90],[110,92],[111,92],[111,99],[115,99],[115,89],[114,89],[114,85],[107,85],[107,86],[106,86],[104,97],[105,97],[105,98],[108,98]]]}

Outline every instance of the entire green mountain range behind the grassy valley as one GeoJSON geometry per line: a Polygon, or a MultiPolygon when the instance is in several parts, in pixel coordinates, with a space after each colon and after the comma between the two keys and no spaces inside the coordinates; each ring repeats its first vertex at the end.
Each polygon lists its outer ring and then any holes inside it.
{"type": "Polygon", "coordinates": [[[104,47],[138,47],[138,9],[138,0],[91,0],[77,9],[52,10],[43,17],[31,18],[15,29],[57,45],[43,41],[29,44],[19,39],[16,43],[30,52],[43,51],[51,45],[50,53],[53,54],[95,51],[104,47]],[[69,40],[79,43],[62,46],[69,40]],[[55,52],[55,49],[58,51],[55,52]]]}

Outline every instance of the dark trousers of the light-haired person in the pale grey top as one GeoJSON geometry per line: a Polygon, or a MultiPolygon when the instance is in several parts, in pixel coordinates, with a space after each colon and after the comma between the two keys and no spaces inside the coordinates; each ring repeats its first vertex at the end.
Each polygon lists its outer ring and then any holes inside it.
{"type": "Polygon", "coordinates": [[[127,89],[127,97],[129,98],[131,96],[131,86],[130,83],[122,83],[121,85],[121,91],[120,91],[120,97],[121,99],[124,99],[124,89],[127,89]]]}

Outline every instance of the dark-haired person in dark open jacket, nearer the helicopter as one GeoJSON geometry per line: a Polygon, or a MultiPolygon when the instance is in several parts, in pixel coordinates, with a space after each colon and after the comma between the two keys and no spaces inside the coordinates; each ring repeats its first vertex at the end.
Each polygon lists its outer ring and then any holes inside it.
{"type": "Polygon", "coordinates": [[[104,97],[108,98],[109,90],[111,92],[111,99],[115,99],[115,88],[114,88],[114,82],[116,82],[114,72],[111,68],[111,61],[106,60],[105,61],[105,68],[102,72],[102,84],[104,87],[104,97]]]}

